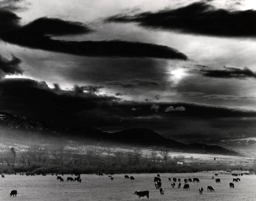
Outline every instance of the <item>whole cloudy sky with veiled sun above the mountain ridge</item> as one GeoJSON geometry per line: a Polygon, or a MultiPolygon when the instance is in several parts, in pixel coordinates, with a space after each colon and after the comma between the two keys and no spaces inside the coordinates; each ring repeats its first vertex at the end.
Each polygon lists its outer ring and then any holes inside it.
{"type": "Polygon", "coordinates": [[[254,0],[0,0],[0,111],[182,142],[255,137],[254,0]]]}

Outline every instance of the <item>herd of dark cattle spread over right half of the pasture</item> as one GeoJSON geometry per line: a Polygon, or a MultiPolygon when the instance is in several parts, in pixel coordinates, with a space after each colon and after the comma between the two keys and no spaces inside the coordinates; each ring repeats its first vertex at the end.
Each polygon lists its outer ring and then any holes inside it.
{"type": "MultiPolygon", "coordinates": [[[[243,176],[243,173],[241,173],[241,174],[232,174],[232,176],[235,176],[235,177],[237,177],[238,175],[243,176]]],[[[215,174],[215,176],[217,177],[218,174],[215,174]]],[[[129,177],[127,175],[124,175],[124,179],[129,179],[129,177]]],[[[211,179],[214,179],[214,177],[212,177],[211,179]]],[[[173,188],[175,187],[175,185],[176,185],[175,182],[177,182],[177,180],[179,182],[177,187],[180,188],[181,187],[181,179],[180,178],[178,178],[178,179],[173,178],[173,182],[172,182],[171,178],[168,178],[168,181],[171,182],[171,186],[173,188]]],[[[183,190],[189,190],[189,184],[188,183],[192,183],[192,182],[193,183],[195,183],[195,182],[199,183],[200,180],[198,178],[193,178],[193,180],[191,178],[184,179],[183,190]]],[[[217,184],[220,184],[221,180],[219,178],[217,178],[217,179],[215,179],[215,182],[217,184]]],[[[233,178],[233,182],[240,182],[240,178],[233,178]]],[[[164,194],[164,188],[162,188],[160,174],[157,174],[157,177],[154,178],[154,184],[155,184],[156,189],[159,189],[160,194],[163,195],[164,194]]],[[[230,182],[229,183],[229,188],[234,188],[234,184],[230,182]]],[[[198,191],[199,191],[199,194],[202,195],[203,191],[204,191],[203,187],[200,187],[198,191]]],[[[207,191],[215,192],[215,189],[212,186],[207,186],[207,191]]],[[[134,194],[136,194],[139,198],[144,197],[144,196],[146,196],[147,198],[150,198],[150,195],[149,195],[150,191],[148,191],[148,190],[146,190],[146,191],[134,191],[134,194]]]]}

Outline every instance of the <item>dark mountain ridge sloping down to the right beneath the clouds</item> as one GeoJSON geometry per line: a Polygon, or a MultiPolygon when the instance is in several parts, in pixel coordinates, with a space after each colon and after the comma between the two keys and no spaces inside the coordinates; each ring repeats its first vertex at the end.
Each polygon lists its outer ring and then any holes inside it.
{"type": "Polygon", "coordinates": [[[115,133],[102,132],[90,127],[74,125],[70,128],[59,128],[54,124],[46,124],[31,120],[27,117],[0,113],[0,134],[5,138],[16,140],[15,143],[28,141],[32,138],[60,142],[62,140],[78,140],[83,143],[100,144],[102,146],[164,146],[179,152],[214,153],[224,155],[238,155],[237,152],[217,145],[200,143],[183,144],[181,142],[164,138],[158,133],[146,129],[135,128],[115,133]],[[2,131],[2,132],[1,132],[2,131]],[[54,140],[53,140],[54,139],[54,140]]]}

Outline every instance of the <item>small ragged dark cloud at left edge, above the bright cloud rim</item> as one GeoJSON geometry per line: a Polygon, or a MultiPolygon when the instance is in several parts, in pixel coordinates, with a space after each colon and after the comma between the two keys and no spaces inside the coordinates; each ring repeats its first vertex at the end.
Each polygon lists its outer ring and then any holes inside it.
{"type": "Polygon", "coordinates": [[[0,78],[7,74],[22,74],[24,70],[19,65],[21,62],[15,56],[12,56],[12,59],[8,60],[0,55],[0,78]]]}

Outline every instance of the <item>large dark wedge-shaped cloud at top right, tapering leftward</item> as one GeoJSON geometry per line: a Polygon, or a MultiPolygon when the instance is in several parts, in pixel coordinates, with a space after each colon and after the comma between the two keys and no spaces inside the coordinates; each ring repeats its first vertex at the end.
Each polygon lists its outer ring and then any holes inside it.
{"type": "Polygon", "coordinates": [[[256,11],[229,11],[217,9],[205,2],[177,9],[144,12],[137,15],[116,15],[109,22],[138,22],[140,26],[228,37],[255,37],[256,11]]]}

